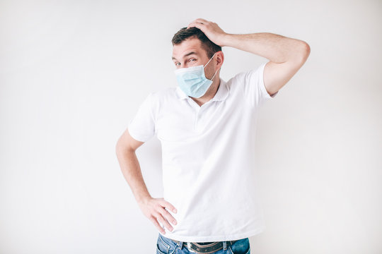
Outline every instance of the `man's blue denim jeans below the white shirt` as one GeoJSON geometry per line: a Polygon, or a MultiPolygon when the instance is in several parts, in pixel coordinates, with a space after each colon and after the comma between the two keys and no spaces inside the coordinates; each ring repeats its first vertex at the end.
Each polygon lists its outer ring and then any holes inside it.
{"type": "MultiPolygon", "coordinates": [[[[216,254],[250,254],[250,243],[248,238],[243,238],[232,245],[228,246],[226,250],[217,250],[216,254]]],[[[190,252],[185,246],[180,246],[170,238],[164,237],[161,234],[156,241],[156,254],[196,254],[190,252]]]]}

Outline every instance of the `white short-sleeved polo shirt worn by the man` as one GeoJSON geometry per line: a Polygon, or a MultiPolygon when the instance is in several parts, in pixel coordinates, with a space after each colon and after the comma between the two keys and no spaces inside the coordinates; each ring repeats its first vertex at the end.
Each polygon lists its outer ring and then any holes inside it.
{"type": "Polygon", "coordinates": [[[220,79],[202,107],[179,87],[151,92],[130,121],[134,139],[161,141],[163,198],[178,210],[169,211],[178,224],[163,236],[230,241],[265,229],[255,188],[255,123],[260,106],[278,93],[265,90],[265,64],[220,79]]]}

